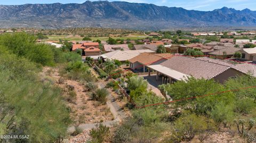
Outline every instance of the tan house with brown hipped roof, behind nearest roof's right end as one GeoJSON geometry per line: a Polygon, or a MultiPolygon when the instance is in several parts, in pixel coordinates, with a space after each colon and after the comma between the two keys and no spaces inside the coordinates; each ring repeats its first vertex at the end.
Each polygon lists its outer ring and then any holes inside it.
{"type": "Polygon", "coordinates": [[[232,57],[235,52],[241,50],[240,48],[234,48],[234,47],[225,47],[222,49],[219,49],[217,51],[213,51],[208,53],[209,55],[213,55],[214,57],[220,58],[220,59],[225,59],[225,58],[230,58],[232,57]]]}

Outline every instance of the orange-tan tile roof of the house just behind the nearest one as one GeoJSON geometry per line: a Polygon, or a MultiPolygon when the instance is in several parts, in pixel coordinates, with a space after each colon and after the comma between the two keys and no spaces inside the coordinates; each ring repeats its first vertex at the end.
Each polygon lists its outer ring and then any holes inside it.
{"type": "Polygon", "coordinates": [[[129,62],[131,63],[139,62],[145,65],[150,65],[159,60],[171,58],[172,56],[173,55],[170,53],[165,53],[165,54],[142,53],[142,54],[139,54],[138,56],[131,58],[129,62]]]}

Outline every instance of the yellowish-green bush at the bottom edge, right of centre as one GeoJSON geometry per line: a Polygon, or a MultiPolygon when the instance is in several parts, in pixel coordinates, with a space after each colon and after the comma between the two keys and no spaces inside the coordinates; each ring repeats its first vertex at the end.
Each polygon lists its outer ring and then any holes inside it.
{"type": "MultiPolygon", "coordinates": [[[[179,117],[179,119],[174,122],[174,128],[174,134],[180,140],[191,140],[196,136],[196,134],[202,136],[201,139],[203,140],[207,137],[204,137],[205,135],[203,136],[201,133],[213,132],[215,130],[215,125],[213,121],[207,119],[204,116],[188,114],[179,117]]],[[[210,134],[211,133],[209,133],[208,136],[210,134]]]]}

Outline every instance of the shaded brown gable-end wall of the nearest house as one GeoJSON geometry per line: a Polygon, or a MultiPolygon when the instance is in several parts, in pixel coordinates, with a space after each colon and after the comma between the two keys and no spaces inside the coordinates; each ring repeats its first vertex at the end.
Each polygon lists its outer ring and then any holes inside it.
{"type": "Polygon", "coordinates": [[[220,83],[225,82],[230,77],[237,77],[238,75],[244,75],[244,73],[239,72],[235,69],[228,69],[227,71],[219,74],[217,77],[214,78],[215,81],[218,81],[220,83]]]}

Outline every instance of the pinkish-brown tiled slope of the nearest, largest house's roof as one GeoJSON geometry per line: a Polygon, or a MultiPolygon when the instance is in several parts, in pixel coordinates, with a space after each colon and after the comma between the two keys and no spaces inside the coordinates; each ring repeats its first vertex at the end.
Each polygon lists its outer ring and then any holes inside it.
{"type": "Polygon", "coordinates": [[[230,69],[229,66],[185,56],[174,56],[160,65],[193,76],[197,79],[211,79],[230,69]]]}

